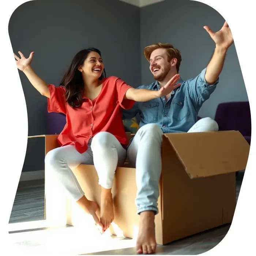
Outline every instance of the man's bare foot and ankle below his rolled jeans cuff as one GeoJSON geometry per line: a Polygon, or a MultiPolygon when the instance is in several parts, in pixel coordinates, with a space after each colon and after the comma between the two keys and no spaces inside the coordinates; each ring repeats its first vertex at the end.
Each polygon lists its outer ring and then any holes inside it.
{"type": "Polygon", "coordinates": [[[155,253],[157,242],[155,241],[155,214],[153,211],[140,213],[139,234],[137,238],[137,253],[155,253]]]}

